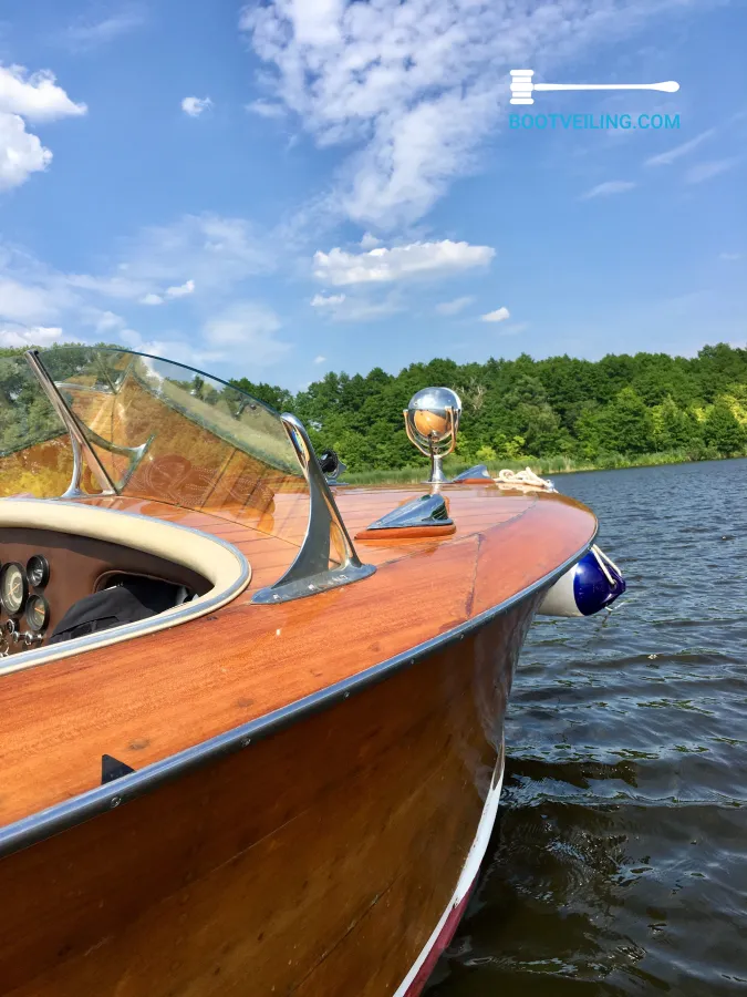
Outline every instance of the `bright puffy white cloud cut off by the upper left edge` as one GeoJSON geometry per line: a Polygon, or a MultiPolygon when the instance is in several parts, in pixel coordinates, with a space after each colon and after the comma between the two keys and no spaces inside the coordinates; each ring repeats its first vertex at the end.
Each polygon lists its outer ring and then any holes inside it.
{"type": "Polygon", "coordinates": [[[32,173],[46,169],[52,153],[25,123],[85,114],[54,82],[50,72],[29,75],[22,65],[0,65],[0,191],[18,187],[32,173]]]}

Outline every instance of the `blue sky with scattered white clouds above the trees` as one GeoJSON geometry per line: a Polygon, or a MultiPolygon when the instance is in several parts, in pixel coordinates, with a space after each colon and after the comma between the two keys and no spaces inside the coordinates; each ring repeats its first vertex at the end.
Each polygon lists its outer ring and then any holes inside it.
{"type": "Polygon", "coordinates": [[[291,390],[744,345],[745,38],[713,0],[28,0],[0,22],[0,345],[103,339],[291,390]],[[527,68],[681,89],[512,107],[527,68]]]}

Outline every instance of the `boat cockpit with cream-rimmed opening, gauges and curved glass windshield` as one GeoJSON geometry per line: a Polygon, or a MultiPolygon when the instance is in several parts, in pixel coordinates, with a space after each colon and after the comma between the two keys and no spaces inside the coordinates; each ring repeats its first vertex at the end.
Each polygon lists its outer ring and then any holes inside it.
{"type": "Polygon", "coordinates": [[[302,424],[180,363],[103,347],[0,359],[0,674],[225,605],[251,569],[194,510],[298,545],[252,602],[367,577],[302,424]],[[283,536],[283,498],[308,498],[283,536]],[[169,508],[172,512],[169,513],[169,508]]]}

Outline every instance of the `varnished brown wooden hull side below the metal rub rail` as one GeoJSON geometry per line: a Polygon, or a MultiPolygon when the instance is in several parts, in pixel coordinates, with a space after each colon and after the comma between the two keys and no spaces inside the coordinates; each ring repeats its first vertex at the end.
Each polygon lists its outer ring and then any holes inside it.
{"type": "Polygon", "coordinates": [[[419,993],[487,840],[540,597],[0,860],[0,993],[419,993]]]}

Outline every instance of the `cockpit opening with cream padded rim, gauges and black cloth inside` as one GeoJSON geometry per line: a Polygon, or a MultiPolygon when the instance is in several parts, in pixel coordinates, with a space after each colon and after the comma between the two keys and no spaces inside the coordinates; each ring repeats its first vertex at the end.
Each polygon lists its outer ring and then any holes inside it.
{"type": "Polygon", "coordinates": [[[84,503],[0,502],[0,674],[214,611],[251,569],[231,544],[84,503]]]}

